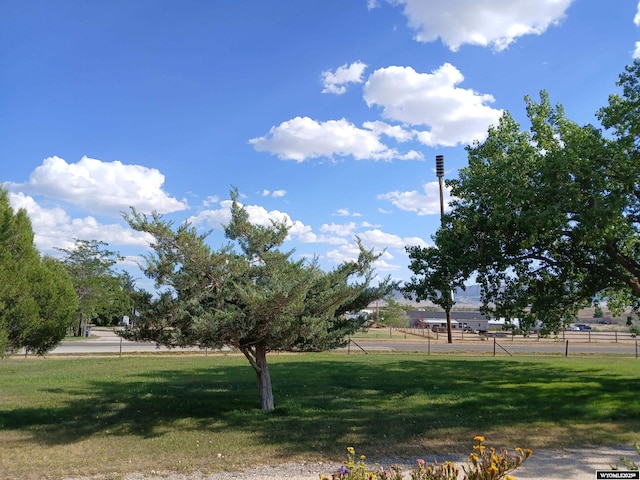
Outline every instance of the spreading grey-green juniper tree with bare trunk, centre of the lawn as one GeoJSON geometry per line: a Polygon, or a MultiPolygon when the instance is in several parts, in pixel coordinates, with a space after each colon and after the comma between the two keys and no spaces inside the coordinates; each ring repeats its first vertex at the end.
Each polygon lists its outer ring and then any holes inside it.
{"type": "Polygon", "coordinates": [[[255,370],[260,407],[274,409],[267,354],[272,351],[320,351],[344,345],[345,336],[362,327],[346,315],[388,294],[389,280],[371,286],[378,255],[360,247],[357,260],[324,272],[316,261],[294,260],[279,249],[288,234],[283,222],[249,222],[232,190],[231,243],[212,250],[208,234],[185,223],[174,229],[157,214],[135,210],[126,219],[150,233],[154,254],[145,273],[161,290],[142,309],[126,338],[178,347],[197,345],[240,350],[255,370]]]}

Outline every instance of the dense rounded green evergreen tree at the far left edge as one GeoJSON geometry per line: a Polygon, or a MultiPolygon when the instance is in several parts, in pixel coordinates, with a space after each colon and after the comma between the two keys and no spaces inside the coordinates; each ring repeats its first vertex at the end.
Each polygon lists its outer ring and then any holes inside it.
{"type": "Polygon", "coordinates": [[[59,261],[41,258],[27,212],[14,212],[0,189],[0,356],[44,355],[65,337],[77,305],[59,261]]]}

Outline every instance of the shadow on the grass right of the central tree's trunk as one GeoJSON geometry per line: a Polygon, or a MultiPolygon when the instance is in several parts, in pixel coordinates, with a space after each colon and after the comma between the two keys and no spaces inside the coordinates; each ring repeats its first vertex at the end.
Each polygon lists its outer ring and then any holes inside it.
{"type": "Polygon", "coordinates": [[[620,432],[640,430],[638,378],[492,360],[398,360],[373,368],[366,362],[356,368],[319,367],[325,374],[335,372],[324,380],[324,395],[311,398],[304,395],[305,388],[287,389],[285,400],[291,402],[285,402],[286,415],[277,427],[288,432],[282,438],[292,449],[305,445],[307,451],[314,451],[334,445],[341,452],[345,445],[357,444],[376,456],[400,451],[417,455],[431,440],[435,441],[429,450],[438,443],[447,448],[462,442],[468,448],[475,435],[502,430],[519,432],[521,445],[529,446],[527,440],[535,441],[536,430],[544,435],[552,427],[586,446],[610,443],[620,432]],[[300,408],[296,408],[298,402],[303,403],[300,408]],[[304,415],[298,415],[298,410],[304,415]],[[596,426],[597,433],[592,428],[596,426]],[[311,438],[308,433],[313,434],[311,438]],[[447,438],[451,436],[458,438],[447,438]],[[336,439],[342,441],[336,445],[336,439]],[[393,451],[385,450],[389,446],[393,451]]]}

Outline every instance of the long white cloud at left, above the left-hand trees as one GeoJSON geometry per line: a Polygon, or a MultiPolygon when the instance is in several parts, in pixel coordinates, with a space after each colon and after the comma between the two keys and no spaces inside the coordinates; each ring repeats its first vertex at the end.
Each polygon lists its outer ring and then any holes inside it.
{"type": "Polygon", "coordinates": [[[162,189],[163,184],[164,175],[155,168],[88,157],[67,163],[54,156],[46,158],[31,173],[28,182],[8,183],[7,187],[115,216],[131,206],[143,212],[160,213],[186,209],[186,202],[169,196],[162,189]]]}

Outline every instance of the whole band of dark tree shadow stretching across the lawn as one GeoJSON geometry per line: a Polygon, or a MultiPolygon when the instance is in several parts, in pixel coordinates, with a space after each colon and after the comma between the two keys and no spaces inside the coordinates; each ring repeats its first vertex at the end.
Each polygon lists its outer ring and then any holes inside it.
{"type": "Polygon", "coordinates": [[[607,443],[607,432],[594,438],[590,426],[640,430],[640,379],[584,367],[517,359],[274,357],[277,408],[268,414],[257,408],[250,367],[210,363],[50,389],[65,401],[0,412],[0,431],[32,432],[36,441],[57,445],[99,434],[149,438],[176,429],[233,429],[283,455],[336,455],[353,444],[384,456],[413,455],[425,442],[451,435],[470,445],[475,434],[506,429],[522,431],[526,440],[532,429],[561,427],[581,435],[584,445],[607,443]]]}

